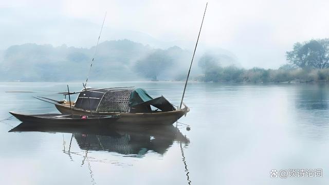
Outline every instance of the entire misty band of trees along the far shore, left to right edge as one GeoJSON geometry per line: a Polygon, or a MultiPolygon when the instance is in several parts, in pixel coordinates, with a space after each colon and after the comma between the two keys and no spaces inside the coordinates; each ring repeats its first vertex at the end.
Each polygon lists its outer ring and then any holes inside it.
{"type": "MultiPolygon", "coordinates": [[[[85,78],[94,47],[24,44],[8,48],[0,60],[1,81],[67,81],[85,78]],[[67,72],[67,71],[70,72],[67,72]]],[[[91,77],[95,81],[186,79],[191,52],[177,46],[155,49],[129,40],[99,45],[91,77]]],[[[191,79],[205,82],[329,81],[329,39],[297,42],[279,69],[239,67],[229,52],[205,52],[196,58],[191,79]]]]}

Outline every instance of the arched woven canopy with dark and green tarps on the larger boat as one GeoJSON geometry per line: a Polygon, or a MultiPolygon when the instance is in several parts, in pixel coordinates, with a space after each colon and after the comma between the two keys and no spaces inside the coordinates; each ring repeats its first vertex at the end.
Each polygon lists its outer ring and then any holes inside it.
{"type": "Polygon", "coordinates": [[[151,105],[168,112],[174,106],[163,96],[153,99],[142,88],[88,88],[79,94],[75,108],[92,110],[97,113],[150,113],[151,105]]]}

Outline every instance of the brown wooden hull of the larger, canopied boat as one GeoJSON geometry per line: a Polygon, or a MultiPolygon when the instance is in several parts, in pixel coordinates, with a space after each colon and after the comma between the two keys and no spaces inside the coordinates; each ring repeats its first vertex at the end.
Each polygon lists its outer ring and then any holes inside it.
{"type": "MultiPolygon", "coordinates": [[[[89,111],[70,108],[69,105],[55,104],[56,108],[62,114],[88,115],[89,111]]],[[[92,113],[97,115],[118,115],[116,123],[127,124],[149,124],[149,125],[170,125],[189,112],[188,107],[160,113],[92,113]]]]}

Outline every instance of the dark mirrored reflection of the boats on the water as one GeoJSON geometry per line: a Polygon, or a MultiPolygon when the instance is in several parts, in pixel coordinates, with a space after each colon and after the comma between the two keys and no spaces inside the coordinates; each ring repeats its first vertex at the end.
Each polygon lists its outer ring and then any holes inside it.
{"type": "Polygon", "coordinates": [[[9,132],[72,133],[72,138],[76,139],[81,150],[116,152],[132,157],[143,157],[148,151],[163,155],[175,141],[185,146],[190,142],[173,125],[120,124],[106,127],[72,127],[23,122],[9,132]]]}

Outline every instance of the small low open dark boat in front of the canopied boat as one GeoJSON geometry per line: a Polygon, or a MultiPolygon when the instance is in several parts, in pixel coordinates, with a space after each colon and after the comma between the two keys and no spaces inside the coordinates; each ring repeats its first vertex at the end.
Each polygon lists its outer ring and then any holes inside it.
{"type": "Polygon", "coordinates": [[[36,114],[25,115],[9,112],[22,122],[42,123],[42,124],[70,124],[70,125],[95,125],[114,123],[117,115],[67,115],[67,114],[36,114]]]}

